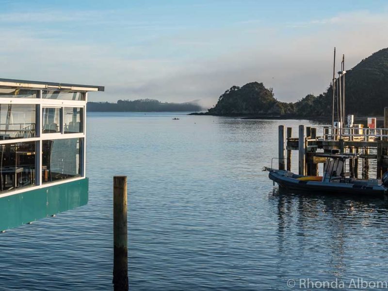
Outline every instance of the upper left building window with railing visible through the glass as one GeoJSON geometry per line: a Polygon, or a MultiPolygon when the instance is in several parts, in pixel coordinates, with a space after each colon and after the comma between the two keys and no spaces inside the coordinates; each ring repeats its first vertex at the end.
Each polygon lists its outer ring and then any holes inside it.
{"type": "Polygon", "coordinates": [[[35,136],[36,105],[0,104],[0,140],[35,136]]]}

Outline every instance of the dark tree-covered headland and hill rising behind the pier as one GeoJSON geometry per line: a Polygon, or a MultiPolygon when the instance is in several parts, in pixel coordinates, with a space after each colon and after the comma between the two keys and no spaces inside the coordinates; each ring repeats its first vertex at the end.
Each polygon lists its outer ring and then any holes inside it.
{"type": "MultiPolygon", "coordinates": [[[[388,106],[388,48],[373,53],[345,75],[346,113],[356,116],[383,114],[388,106]]],[[[302,86],[302,84],[301,84],[302,86]]],[[[272,88],[251,82],[232,86],[206,113],[197,115],[245,116],[268,118],[322,118],[332,113],[333,87],[319,96],[308,94],[294,103],[278,101],[272,88]]]]}

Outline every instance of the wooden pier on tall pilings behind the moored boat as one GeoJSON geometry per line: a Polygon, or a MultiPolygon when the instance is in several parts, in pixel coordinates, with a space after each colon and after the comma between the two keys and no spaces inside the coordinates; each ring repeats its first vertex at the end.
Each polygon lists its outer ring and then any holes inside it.
{"type": "Polygon", "coordinates": [[[291,171],[292,151],[298,151],[298,174],[319,176],[318,164],[325,163],[323,153],[355,154],[344,167],[346,176],[368,179],[371,160],[376,160],[376,178],[388,170],[388,107],[384,109],[384,128],[334,128],[300,125],[297,137],[292,128],[279,126],[279,169],[291,171]],[[320,135],[318,135],[320,131],[320,135]],[[360,170],[360,171],[359,171],[360,170]]]}

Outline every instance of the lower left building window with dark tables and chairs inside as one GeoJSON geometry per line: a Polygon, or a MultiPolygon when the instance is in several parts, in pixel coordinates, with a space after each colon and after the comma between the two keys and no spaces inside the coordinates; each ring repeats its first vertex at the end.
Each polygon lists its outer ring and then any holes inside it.
{"type": "Polygon", "coordinates": [[[35,142],[0,145],[0,191],[35,184],[35,142]]]}

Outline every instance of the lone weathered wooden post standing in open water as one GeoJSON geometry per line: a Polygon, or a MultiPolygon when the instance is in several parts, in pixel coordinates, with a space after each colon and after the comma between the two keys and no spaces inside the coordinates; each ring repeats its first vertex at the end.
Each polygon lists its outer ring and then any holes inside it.
{"type": "Polygon", "coordinates": [[[113,177],[113,285],[128,291],[127,177],[113,177]]]}

